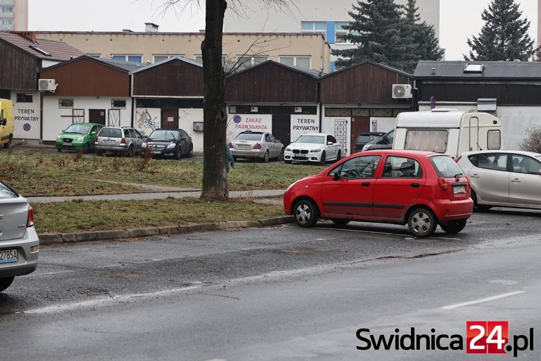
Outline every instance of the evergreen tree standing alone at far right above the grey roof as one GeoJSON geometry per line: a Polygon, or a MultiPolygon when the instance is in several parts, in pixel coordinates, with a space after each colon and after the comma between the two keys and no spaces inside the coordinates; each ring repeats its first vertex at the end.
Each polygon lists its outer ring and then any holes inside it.
{"type": "Polygon", "coordinates": [[[539,48],[528,35],[530,21],[522,19],[522,11],[514,0],[492,0],[481,18],[485,25],[478,37],[468,38],[466,61],[528,61],[539,48]]]}

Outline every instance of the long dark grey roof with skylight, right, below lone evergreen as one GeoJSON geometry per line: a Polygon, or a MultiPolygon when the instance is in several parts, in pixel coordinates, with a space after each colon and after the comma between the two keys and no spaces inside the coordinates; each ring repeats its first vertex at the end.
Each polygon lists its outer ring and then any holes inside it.
{"type": "Polygon", "coordinates": [[[538,61],[419,61],[413,78],[532,79],[541,78],[538,61]],[[480,73],[464,73],[468,64],[483,64],[480,73]]]}

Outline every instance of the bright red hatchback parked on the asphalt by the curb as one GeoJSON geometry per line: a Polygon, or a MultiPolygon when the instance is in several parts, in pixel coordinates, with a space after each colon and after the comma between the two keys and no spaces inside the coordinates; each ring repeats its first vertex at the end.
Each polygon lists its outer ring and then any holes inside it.
{"type": "Polygon", "coordinates": [[[440,224],[458,233],[473,212],[470,183],[456,162],[432,152],[381,149],[332,164],[287,188],[286,214],[301,227],[319,218],[407,224],[416,237],[432,235],[440,224]]]}

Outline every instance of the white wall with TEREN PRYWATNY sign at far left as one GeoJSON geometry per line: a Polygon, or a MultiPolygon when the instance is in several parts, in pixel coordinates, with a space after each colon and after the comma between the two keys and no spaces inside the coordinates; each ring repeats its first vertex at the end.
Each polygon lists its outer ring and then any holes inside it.
{"type": "Polygon", "coordinates": [[[15,139],[39,140],[41,129],[40,100],[39,92],[24,92],[32,94],[31,103],[18,103],[16,91],[11,92],[11,101],[13,102],[13,119],[15,130],[13,137],[15,139]]]}

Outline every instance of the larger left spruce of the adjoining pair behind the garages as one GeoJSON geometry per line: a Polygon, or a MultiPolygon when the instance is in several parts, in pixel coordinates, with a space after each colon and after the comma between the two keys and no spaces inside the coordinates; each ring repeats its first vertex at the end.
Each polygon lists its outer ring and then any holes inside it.
{"type": "Polygon", "coordinates": [[[337,66],[370,60],[402,69],[407,44],[402,41],[400,6],[394,0],[356,2],[354,11],[349,11],[353,20],[344,29],[349,30],[345,39],[358,47],[333,50],[332,54],[340,56],[337,66]]]}

